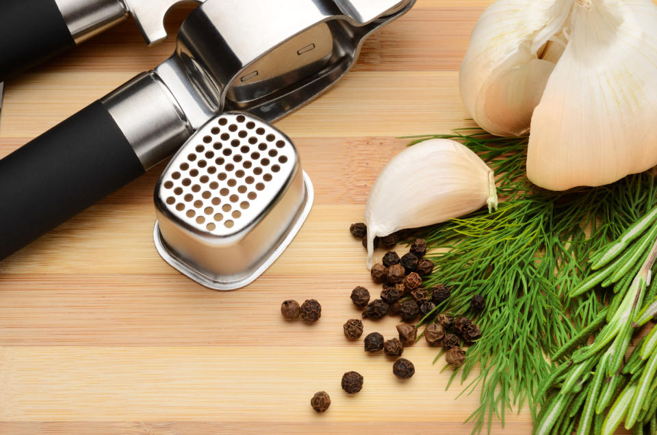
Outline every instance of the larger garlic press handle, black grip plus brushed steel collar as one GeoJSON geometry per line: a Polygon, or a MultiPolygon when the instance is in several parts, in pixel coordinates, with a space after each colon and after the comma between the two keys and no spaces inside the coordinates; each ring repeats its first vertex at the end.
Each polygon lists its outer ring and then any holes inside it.
{"type": "Polygon", "coordinates": [[[145,72],[0,160],[0,260],[172,155],[191,135],[172,100],[145,72]]]}

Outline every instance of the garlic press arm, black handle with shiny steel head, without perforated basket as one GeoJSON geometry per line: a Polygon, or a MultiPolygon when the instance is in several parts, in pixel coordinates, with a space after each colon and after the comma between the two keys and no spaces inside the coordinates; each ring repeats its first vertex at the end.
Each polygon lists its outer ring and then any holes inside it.
{"type": "Polygon", "coordinates": [[[272,122],[309,103],[414,2],[205,1],[168,60],[0,161],[0,259],[170,157],[223,111],[272,122]]]}

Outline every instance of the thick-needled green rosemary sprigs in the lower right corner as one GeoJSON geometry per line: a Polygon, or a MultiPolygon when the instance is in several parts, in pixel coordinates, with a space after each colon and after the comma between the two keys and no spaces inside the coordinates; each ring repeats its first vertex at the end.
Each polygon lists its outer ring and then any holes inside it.
{"type": "Polygon", "coordinates": [[[657,208],[630,226],[617,241],[593,254],[592,269],[598,270],[592,271],[589,277],[570,291],[571,297],[578,298],[590,288],[589,282],[594,280],[592,277],[600,274],[618,277],[613,292],[602,294],[603,298],[613,300],[596,319],[595,325],[602,326],[602,330],[593,343],[587,345],[582,342],[583,347],[576,349],[571,339],[556,352],[560,358],[567,356],[567,360],[553,369],[547,381],[541,384],[539,394],[545,397],[539,397],[539,400],[543,399],[543,407],[552,410],[552,414],[543,413],[537,418],[535,433],[545,433],[545,430],[550,430],[552,419],[563,418],[566,412],[554,397],[571,395],[575,383],[582,384],[582,388],[591,392],[586,400],[576,404],[576,410],[571,408],[567,412],[571,417],[582,408],[578,434],[589,434],[594,410],[595,414],[604,416],[600,427],[602,434],[613,434],[623,421],[624,427],[634,429],[635,433],[643,433],[643,427],[652,424],[654,413],[650,410],[657,388],[657,328],[653,327],[636,343],[624,364],[623,360],[632,336],[639,326],[647,322],[645,313],[650,313],[654,304],[654,300],[649,298],[654,285],[651,283],[649,286],[648,283],[656,272],[656,217],[657,208]],[[601,317],[606,322],[600,323],[601,317]],[[560,384],[558,381],[563,376],[566,380],[560,384]],[[607,378],[606,386],[602,388],[604,378],[607,378]],[[624,388],[619,391],[617,387],[623,385],[624,388]]]}

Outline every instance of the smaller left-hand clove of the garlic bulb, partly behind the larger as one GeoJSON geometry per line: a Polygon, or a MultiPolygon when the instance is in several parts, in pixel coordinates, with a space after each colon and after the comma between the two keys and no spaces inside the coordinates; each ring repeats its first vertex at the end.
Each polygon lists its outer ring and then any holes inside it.
{"type": "Polygon", "coordinates": [[[572,4],[498,0],[480,16],[461,64],[459,89],[483,129],[504,136],[529,131],[532,111],[563,50],[558,35],[572,4]]]}

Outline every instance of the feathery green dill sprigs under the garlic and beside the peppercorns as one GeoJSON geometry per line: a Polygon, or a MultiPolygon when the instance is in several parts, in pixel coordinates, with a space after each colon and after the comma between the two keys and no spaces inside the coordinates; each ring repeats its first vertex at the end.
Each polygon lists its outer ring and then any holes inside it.
{"type": "MultiPolygon", "coordinates": [[[[526,179],[526,138],[469,129],[414,137],[413,144],[432,138],[459,140],[480,155],[495,171],[502,198],[491,214],[473,213],[419,235],[428,248],[445,251],[429,255],[436,267],[426,287],[452,288],[452,296],[423,322],[443,312],[476,315],[469,305],[475,294],[487,302],[478,317],[484,336],[469,348],[460,370],[464,382],[480,367],[464,391],[480,388],[480,406],[468,421],[475,423],[473,432],[486,421],[490,431],[492,418],[504,425],[505,412],[514,406],[519,410],[528,403],[536,415],[534,393],[553,367],[544,355],[595,321],[603,307],[593,292],[576,298],[567,293],[589,274],[589,252],[617,239],[652,208],[655,183],[650,174],[636,174],[604,187],[548,192],[526,179]]],[[[555,400],[567,406],[566,398],[555,400]]]]}

